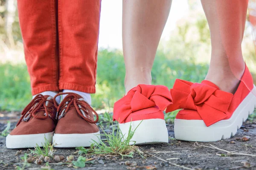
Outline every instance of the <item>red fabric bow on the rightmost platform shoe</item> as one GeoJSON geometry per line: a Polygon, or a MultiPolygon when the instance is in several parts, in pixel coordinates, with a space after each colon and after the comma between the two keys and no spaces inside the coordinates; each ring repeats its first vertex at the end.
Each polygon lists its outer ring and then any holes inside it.
{"type": "Polygon", "coordinates": [[[171,95],[174,103],[167,107],[167,113],[177,109],[195,110],[207,126],[227,118],[233,97],[233,94],[219,90],[218,86],[207,80],[192,83],[180,79],[175,81],[171,95]]]}

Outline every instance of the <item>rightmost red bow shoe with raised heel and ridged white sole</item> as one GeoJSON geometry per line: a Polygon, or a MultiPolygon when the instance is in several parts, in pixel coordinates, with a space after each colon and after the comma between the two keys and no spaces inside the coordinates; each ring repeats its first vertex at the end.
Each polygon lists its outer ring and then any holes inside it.
{"type": "Polygon", "coordinates": [[[192,83],[177,79],[171,95],[173,105],[166,112],[181,110],[175,119],[175,138],[213,142],[234,136],[256,106],[256,87],[250,71],[244,74],[234,94],[221,91],[204,80],[192,83]]]}

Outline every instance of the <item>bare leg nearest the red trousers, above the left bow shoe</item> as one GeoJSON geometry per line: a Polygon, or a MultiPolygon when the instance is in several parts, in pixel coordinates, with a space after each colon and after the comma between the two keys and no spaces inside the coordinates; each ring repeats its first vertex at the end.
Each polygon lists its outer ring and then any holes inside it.
{"type": "Polygon", "coordinates": [[[151,69],[172,0],[123,0],[122,37],[126,93],[151,84],[151,69]]]}

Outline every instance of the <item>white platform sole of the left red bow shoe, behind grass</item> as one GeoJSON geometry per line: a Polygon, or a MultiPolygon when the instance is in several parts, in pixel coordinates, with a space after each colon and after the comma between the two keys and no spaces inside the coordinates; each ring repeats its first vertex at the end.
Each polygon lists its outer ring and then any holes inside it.
{"type": "Polygon", "coordinates": [[[168,143],[168,130],[163,119],[146,119],[120,123],[119,128],[125,138],[128,135],[130,125],[132,131],[137,127],[130,144],[134,144],[134,141],[136,141],[135,144],[168,143]]]}

